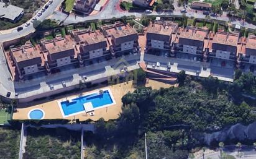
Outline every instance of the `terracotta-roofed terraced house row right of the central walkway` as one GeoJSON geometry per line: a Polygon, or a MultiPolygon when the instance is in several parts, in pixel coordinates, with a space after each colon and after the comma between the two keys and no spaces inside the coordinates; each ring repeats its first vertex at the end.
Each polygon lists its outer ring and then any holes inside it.
{"type": "Polygon", "coordinates": [[[187,58],[216,62],[222,67],[230,64],[247,71],[256,66],[256,37],[240,37],[239,33],[208,28],[178,27],[175,22],[154,22],[147,29],[145,53],[165,57],[187,58]]]}

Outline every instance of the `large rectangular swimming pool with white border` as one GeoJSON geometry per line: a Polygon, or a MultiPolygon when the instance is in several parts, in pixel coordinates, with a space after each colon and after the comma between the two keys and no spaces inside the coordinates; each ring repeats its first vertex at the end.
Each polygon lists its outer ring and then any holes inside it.
{"type": "Polygon", "coordinates": [[[82,97],[72,98],[70,100],[60,101],[59,106],[65,117],[75,114],[85,113],[85,103],[93,105],[94,110],[105,106],[114,105],[115,101],[110,90],[103,90],[103,93],[93,92],[82,97]]]}

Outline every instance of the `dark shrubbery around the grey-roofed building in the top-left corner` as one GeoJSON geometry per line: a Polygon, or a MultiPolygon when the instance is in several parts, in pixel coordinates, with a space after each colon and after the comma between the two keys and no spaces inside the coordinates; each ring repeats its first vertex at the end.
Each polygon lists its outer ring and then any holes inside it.
{"type": "Polygon", "coordinates": [[[0,20],[0,30],[6,30],[24,24],[32,17],[35,11],[37,11],[37,9],[44,4],[44,2],[40,0],[4,0],[2,2],[9,2],[14,6],[21,7],[25,10],[25,13],[21,20],[16,23],[9,22],[8,20],[0,20]]]}

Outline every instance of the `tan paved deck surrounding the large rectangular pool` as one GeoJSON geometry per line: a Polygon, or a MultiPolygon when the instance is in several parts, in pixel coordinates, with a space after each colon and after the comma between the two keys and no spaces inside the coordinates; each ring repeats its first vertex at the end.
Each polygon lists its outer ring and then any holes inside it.
{"type": "Polygon", "coordinates": [[[81,94],[81,93],[77,93],[77,94],[66,96],[63,98],[58,98],[52,101],[47,101],[45,103],[41,103],[38,105],[18,106],[17,112],[13,114],[12,119],[14,120],[29,119],[27,114],[29,113],[29,111],[34,109],[43,110],[43,112],[45,113],[44,119],[70,119],[70,120],[79,119],[80,121],[86,121],[88,119],[97,121],[100,118],[104,118],[105,121],[108,121],[109,119],[117,119],[119,117],[119,114],[122,111],[121,109],[122,96],[124,96],[129,91],[133,92],[135,88],[132,85],[132,81],[129,81],[128,84],[122,83],[122,84],[111,85],[103,88],[96,88],[88,92],[83,92],[83,94],[88,94],[100,89],[107,89],[107,88],[111,90],[111,93],[114,97],[114,100],[116,101],[116,104],[94,110],[94,113],[95,113],[94,116],[89,116],[89,114],[81,113],[81,114],[76,114],[74,116],[68,116],[66,118],[63,118],[60,108],[58,106],[58,101],[65,100],[66,98],[74,98],[81,94]]]}

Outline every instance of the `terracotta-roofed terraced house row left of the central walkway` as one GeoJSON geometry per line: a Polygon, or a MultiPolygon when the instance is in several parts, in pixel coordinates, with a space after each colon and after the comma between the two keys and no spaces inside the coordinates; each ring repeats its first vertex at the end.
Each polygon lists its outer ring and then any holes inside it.
{"type": "Polygon", "coordinates": [[[71,30],[70,35],[42,39],[35,46],[30,42],[11,46],[6,59],[13,79],[24,80],[33,74],[54,74],[66,66],[83,67],[93,61],[134,54],[138,47],[136,30],[116,22],[102,25],[101,30],[71,30]]]}

